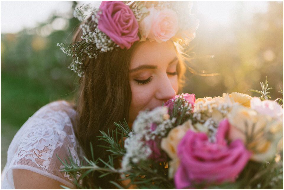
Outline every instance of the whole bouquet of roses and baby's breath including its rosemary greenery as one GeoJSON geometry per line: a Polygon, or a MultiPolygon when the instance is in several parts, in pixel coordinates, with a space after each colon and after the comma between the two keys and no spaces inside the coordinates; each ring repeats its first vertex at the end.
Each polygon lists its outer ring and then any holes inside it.
{"type": "Polygon", "coordinates": [[[197,100],[194,94],[176,95],[141,111],[132,129],[124,122],[102,132],[109,162],[101,160],[101,169],[88,162],[102,177],[120,173],[137,188],[281,189],[283,108],[268,100],[268,85],[262,86],[260,98],[238,92],[197,100]],[[115,141],[119,135],[124,140],[115,141]],[[120,168],[114,167],[116,156],[120,168]]]}

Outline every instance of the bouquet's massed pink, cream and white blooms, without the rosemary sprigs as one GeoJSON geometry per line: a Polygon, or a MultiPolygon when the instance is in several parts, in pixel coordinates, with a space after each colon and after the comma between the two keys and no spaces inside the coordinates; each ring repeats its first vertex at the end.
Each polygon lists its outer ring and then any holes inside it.
{"type": "MultiPolygon", "coordinates": [[[[124,146],[125,173],[148,166],[157,179],[173,178],[177,189],[209,187],[235,182],[249,160],[275,157],[283,146],[283,108],[238,92],[198,100],[181,94],[141,112],[132,130],[124,146]]],[[[162,180],[154,184],[170,187],[162,180]]]]}

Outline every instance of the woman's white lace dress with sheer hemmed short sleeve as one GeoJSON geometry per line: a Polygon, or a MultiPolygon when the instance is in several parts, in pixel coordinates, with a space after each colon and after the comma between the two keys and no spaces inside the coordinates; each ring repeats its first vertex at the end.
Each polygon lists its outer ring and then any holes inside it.
{"type": "Polygon", "coordinates": [[[76,111],[63,100],[35,112],[9,146],[7,163],[1,173],[1,189],[14,189],[12,169],[30,170],[75,188],[70,176],[60,172],[63,165],[56,156],[64,160],[69,148],[78,164],[83,158],[72,127],[75,115],[76,111]]]}

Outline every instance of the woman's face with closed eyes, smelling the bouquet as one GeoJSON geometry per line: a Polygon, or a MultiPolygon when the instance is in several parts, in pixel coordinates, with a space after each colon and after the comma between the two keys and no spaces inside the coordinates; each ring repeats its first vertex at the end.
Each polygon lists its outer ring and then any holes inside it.
{"type": "Polygon", "coordinates": [[[130,62],[129,79],[132,100],[129,124],[139,111],[161,106],[178,92],[178,58],[174,44],[148,40],[139,44],[130,62]]]}

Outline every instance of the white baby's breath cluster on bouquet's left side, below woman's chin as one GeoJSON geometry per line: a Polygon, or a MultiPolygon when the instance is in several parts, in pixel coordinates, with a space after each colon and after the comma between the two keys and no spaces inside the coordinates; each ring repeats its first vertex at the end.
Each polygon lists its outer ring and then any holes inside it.
{"type": "Polygon", "coordinates": [[[125,140],[126,154],[122,159],[122,169],[130,169],[130,163],[138,163],[146,160],[151,154],[151,148],[146,141],[154,140],[156,136],[164,137],[175,123],[175,118],[169,119],[168,108],[166,106],[157,107],[152,111],[141,111],[136,117],[130,137],[125,140]],[[151,130],[151,125],[157,124],[155,130],[151,130]]]}

